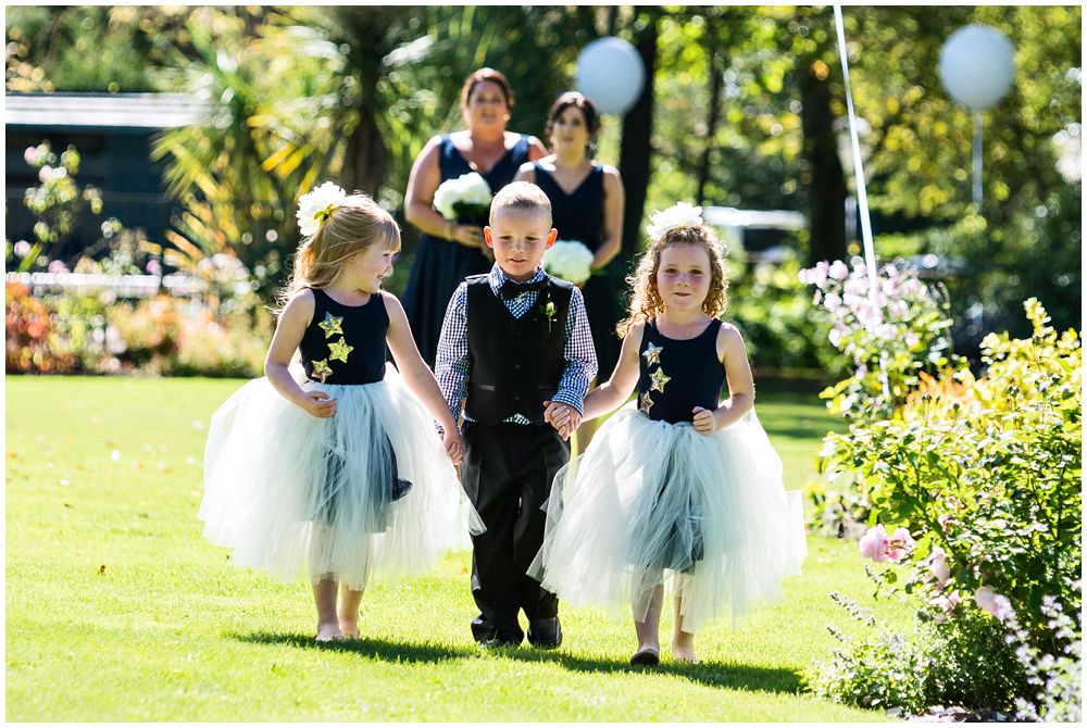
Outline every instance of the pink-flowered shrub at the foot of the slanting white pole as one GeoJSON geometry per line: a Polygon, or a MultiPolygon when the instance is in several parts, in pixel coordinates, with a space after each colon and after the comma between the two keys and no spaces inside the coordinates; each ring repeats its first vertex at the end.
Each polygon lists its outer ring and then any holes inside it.
{"type": "Polygon", "coordinates": [[[815,286],[814,303],[833,324],[827,338],[853,363],[851,377],[821,393],[835,414],[886,416],[917,385],[919,372],[948,363],[946,296],[900,263],[879,268],[875,300],[865,263],[855,255],[850,265],[823,261],[804,268],[799,279],[815,286]]]}

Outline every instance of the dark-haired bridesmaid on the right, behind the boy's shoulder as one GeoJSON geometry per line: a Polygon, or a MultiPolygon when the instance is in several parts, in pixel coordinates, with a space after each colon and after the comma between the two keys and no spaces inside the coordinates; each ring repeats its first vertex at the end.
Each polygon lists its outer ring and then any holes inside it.
{"type": "MultiPolygon", "coordinates": [[[[623,242],[623,181],[610,164],[592,159],[600,117],[592,102],[576,91],[560,96],[551,106],[545,136],[553,152],[527,162],[517,179],[538,185],[551,200],[560,240],[579,240],[595,253],[592,269],[601,271],[623,242]]],[[[594,275],[582,286],[597,351],[599,379],[607,379],[619,360],[615,334],[619,301],[607,275],[594,275]]],[[[584,447],[584,444],[583,444],[584,447]]]]}

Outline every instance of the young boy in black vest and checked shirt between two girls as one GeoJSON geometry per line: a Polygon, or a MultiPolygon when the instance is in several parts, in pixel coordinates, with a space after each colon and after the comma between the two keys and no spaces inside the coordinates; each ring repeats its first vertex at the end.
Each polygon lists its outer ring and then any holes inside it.
{"type": "Polygon", "coordinates": [[[453,418],[464,415],[461,477],[487,526],[472,539],[472,633],[484,647],[521,644],[522,610],[532,644],[562,642],[559,599],[525,572],[597,357],[582,292],[540,267],[557,235],[539,187],[503,187],[484,228],[495,265],[453,292],[438,342],[438,385],[453,418]]]}

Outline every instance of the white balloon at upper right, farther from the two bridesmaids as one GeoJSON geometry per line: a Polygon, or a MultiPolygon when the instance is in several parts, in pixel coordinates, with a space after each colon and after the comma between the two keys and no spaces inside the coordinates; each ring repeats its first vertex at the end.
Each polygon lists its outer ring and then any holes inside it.
{"type": "Polygon", "coordinates": [[[967,25],[940,49],[940,80],[959,102],[975,111],[1003,98],[1015,77],[1015,48],[990,25],[967,25]]]}

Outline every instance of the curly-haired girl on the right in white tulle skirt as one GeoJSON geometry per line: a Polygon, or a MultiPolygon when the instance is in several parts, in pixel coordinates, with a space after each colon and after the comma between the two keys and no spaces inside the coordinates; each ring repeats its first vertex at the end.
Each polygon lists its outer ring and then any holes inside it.
{"type": "Polygon", "coordinates": [[[665,573],[672,576],[672,656],[697,662],[708,619],[780,595],[807,552],[799,492],[752,409],[744,339],[725,307],[722,252],[700,208],[652,216],[652,244],[632,277],[630,316],[611,379],[585,400],[585,418],[638,398],[555,476],[544,545],[528,569],[572,604],[628,599],[638,649],[660,661],[665,573]],[[727,381],[729,398],[720,402],[727,381]],[[575,472],[576,468],[576,472],[575,472]]]}

